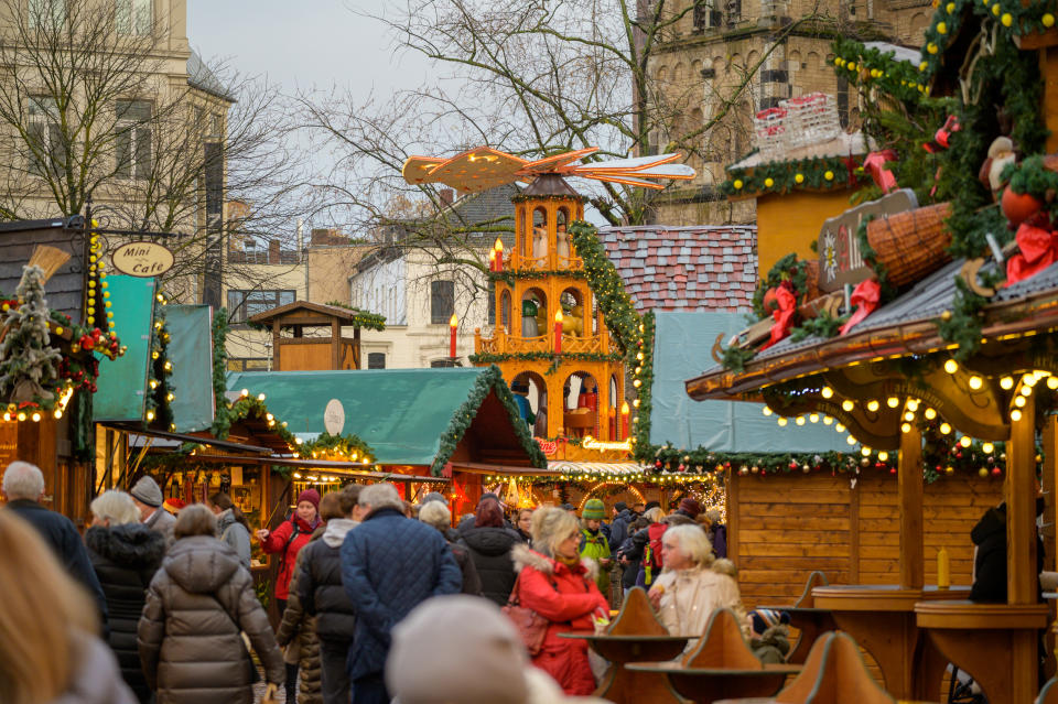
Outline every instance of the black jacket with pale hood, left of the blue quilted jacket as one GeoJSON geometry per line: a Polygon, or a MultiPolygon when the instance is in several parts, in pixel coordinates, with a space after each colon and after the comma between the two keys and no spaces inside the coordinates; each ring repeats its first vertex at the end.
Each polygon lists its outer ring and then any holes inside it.
{"type": "Polygon", "coordinates": [[[342,586],[339,550],[346,534],[357,526],[357,521],[349,519],[331,519],[323,538],[302,550],[298,596],[305,613],[316,617],[316,635],[321,640],[353,640],[356,614],[342,586]]]}

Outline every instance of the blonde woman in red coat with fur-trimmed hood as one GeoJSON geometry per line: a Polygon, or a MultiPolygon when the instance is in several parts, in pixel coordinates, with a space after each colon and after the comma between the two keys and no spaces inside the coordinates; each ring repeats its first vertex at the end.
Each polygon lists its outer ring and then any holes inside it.
{"type": "Polygon", "coordinates": [[[591,631],[593,616],[608,616],[609,605],[595,586],[597,566],[577,554],[581,527],[562,509],[540,509],[532,516],[532,546],[512,551],[519,571],[515,595],[521,606],[549,621],[543,646],[532,658],[566,694],[586,695],[595,690],[587,662],[587,642],[561,638],[572,630],[591,631]]]}

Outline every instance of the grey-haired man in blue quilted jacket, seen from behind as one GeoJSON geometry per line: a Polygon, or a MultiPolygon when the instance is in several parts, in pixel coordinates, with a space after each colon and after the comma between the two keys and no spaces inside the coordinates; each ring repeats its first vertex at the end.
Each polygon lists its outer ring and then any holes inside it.
{"type": "Polygon", "coordinates": [[[342,543],[342,584],[356,609],[349,679],[356,704],[388,704],[384,671],[390,632],[432,596],[458,594],[463,573],[439,531],[404,517],[391,484],[360,491],[364,522],[342,543]]]}

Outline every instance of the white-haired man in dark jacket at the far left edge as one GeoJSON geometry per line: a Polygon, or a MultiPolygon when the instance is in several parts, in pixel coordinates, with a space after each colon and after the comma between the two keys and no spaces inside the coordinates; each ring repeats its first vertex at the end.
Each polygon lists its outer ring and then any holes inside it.
{"type": "Polygon", "coordinates": [[[69,576],[79,582],[99,605],[104,629],[107,628],[107,599],[91,568],[88,551],[73,521],[41,506],[44,496],[44,475],[40,467],[15,461],[3,472],[3,497],[7,510],[31,524],[41,534],[69,576]]]}

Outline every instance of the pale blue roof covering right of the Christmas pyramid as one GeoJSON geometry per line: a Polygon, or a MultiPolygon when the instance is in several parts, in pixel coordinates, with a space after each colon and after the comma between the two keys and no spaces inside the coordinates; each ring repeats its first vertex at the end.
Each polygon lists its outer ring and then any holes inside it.
{"type": "Polygon", "coordinates": [[[715,452],[812,453],[849,450],[833,425],[779,427],[763,403],[695,401],[684,380],[716,362],[716,336],[724,340],[746,327],[743,313],[655,313],[650,443],[715,452]]]}

